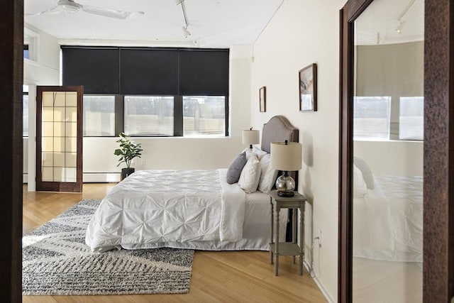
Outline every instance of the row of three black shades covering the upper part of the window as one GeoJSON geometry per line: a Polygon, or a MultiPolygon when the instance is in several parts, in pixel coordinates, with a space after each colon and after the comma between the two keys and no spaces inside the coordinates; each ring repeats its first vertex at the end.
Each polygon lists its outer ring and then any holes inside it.
{"type": "Polygon", "coordinates": [[[228,50],[62,46],[63,85],[86,94],[228,95],[228,50]]]}

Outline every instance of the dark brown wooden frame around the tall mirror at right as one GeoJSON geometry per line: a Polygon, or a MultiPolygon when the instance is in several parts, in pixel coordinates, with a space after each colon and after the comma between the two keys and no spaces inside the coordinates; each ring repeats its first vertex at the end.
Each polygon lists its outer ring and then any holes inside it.
{"type": "MultiPolygon", "coordinates": [[[[352,302],[353,22],[373,0],[340,13],[338,302],[352,302]]],[[[454,4],[424,4],[423,302],[454,295],[454,4]]]]}

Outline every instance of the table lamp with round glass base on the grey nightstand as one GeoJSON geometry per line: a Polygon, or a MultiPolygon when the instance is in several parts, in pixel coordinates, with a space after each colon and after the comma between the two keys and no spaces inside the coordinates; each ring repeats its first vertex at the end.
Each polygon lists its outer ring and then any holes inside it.
{"type": "Polygon", "coordinates": [[[295,181],[290,177],[290,171],[301,170],[302,145],[297,142],[272,142],[271,167],[282,170],[283,175],[276,180],[277,194],[280,197],[293,197],[295,181]]]}

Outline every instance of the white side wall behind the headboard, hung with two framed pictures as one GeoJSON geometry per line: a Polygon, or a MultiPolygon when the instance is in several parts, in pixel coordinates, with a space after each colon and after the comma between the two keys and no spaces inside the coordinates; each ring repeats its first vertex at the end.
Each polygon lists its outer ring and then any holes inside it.
{"type": "Polygon", "coordinates": [[[306,243],[322,232],[322,246],[310,253],[326,297],[337,297],[338,258],[338,69],[339,10],[346,0],[284,1],[254,45],[251,121],[261,127],[275,115],[287,116],[299,128],[303,168],[299,192],[306,195],[306,243]],[[298,71],[318,65],[318,111],[299,112],[298,71]],[[267,87],[267,112],[260,113],[258,89],[267,87]],[[257,96],[257,97],[256,97],[257,96]]]}

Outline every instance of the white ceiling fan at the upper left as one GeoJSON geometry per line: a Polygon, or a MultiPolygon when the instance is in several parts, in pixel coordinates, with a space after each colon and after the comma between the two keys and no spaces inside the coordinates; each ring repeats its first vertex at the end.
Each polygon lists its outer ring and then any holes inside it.
{"type": "Polygon", "coordinates": [[[97,6],[88,6],[78,4],[74,0],[58,0],[57,6],[47,11],[41,11],[34,13],[33,16],[42,16],[54,13],[77,13],[78,11],[84,11],[86,13],[94,13],[95,15],[118,18],[118,19],[129,19],[135,15],[143,15],[143,11],[118,11],[116,9],[103,9],[97,6]]]}

